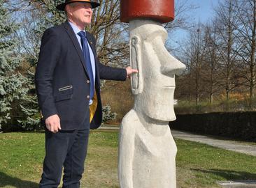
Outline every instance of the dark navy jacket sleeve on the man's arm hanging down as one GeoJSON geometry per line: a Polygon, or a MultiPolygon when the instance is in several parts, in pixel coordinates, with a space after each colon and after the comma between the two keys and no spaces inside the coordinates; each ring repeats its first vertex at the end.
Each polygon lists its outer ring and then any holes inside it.
{"type": "Polygon", "coordinates": [[[36,93],[43,118],[57,114],[52,92],[52,79],[60,54],[60,41],[53,29],[43,33],[38,63],[36,66],[36,93]]]}

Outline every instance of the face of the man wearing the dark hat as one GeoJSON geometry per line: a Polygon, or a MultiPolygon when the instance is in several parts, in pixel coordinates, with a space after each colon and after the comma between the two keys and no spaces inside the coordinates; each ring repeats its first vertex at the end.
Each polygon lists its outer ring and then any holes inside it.
{"type": "Polygon", "coordinates": [[[90,3],[76,2],[66,6],[70,19],[78,25],[88,25],[92,21],[92,6],[90,3]]]}

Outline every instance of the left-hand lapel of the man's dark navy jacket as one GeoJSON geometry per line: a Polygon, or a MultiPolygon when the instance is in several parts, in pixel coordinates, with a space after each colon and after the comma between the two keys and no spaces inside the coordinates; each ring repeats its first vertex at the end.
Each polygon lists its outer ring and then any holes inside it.
{"type": "Polygon", "coordinates": [[[73,32],[73,29],[69,25],[69,22],[67,22],[67,21],[64,22],[64,27],[66,29],[66,32],[69,34],[69,38],[71,38],[71,41],[72,41],[73,45],[75,46],[76,51],[78,52],[80,62],[82,63],[83,68],[85,69],[85,72],[88,75],[87,69],[85,67],[85,58],[83,57],[83,52],[82,52],[81,47],[78,43],[78,38],[76,38],[76,33],[73,32]]]}

